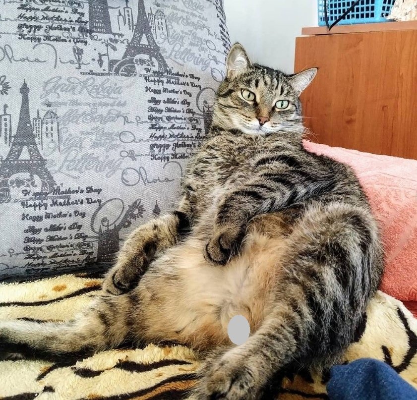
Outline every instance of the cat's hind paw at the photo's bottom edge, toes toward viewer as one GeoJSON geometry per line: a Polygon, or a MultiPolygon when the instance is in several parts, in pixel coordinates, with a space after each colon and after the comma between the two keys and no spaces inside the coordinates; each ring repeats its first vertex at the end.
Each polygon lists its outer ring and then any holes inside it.
{"type": "Polygon", "coordinates": [[[256,368],[228,354],[208,365],[197,392],[199,400],[257,400],[260,395],[256,368]]]}

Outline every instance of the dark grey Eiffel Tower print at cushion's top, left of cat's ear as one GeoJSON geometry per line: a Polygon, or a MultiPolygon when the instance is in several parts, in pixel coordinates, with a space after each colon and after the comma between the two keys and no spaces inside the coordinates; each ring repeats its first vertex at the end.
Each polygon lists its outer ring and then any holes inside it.
{"type": "Polygon", "coordinates": [[[151,26],[146,15],[144,0],[138,0],[137,21],[132,40],[127,44],[121,60],[112,60],[113,73],[123,76],[136,75],[136,65],[145,61],[138,56],[148,56],[149,64],[153,66],[152,58],[158,62],[158,71],[164,73],[168,69],[165,58],[152,35],[151,26]],[[116,62],[115,62],[116,61],[116,62]]]}

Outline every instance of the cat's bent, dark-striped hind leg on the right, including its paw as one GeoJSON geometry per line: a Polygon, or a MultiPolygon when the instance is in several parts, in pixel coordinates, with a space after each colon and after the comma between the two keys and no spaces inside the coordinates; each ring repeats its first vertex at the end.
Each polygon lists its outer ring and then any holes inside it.
{"type": "Polygon", "coordinates": [[[287,241],[269,313],[245,343],[203,365],[198,400],[259,400],[284,368],[333,365],[363,326],[383,266],[369,210],[311,203],[287,241]]]}

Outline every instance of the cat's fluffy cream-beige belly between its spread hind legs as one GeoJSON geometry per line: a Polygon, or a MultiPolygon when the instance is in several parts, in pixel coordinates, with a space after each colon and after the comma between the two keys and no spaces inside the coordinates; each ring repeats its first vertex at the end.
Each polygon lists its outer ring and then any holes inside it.
{"type": "Polygon", "coordinates": [[[156,260],[140,282],[141,325],[149,340],[173,340],[207,349],[230,343],[232,317],[255,332],[273,303],[285,239],[251,229],[242,253],[226,266],[203,257],[205,242],[190,238],[156,260]]]}

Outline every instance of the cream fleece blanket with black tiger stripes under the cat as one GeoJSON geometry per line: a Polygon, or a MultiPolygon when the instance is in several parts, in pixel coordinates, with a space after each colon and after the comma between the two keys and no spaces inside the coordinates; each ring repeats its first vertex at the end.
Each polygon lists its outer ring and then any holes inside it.
{"type": "MultiPolygon", "coordinates": [[[[68,320],[100,290],[102,279],[66,275],[0,284],[0,319],[68,320]]],[[[345,354],[346,362],[373,357],[391,365],[417,388],[417,320],[394,298],[378,292],[366,324],[345,354]]],[[[52,364],[0,362],[0,399],[179,400],[196,383],[196,355],[183,346],[118,349],[52,364]]],[[[284,379],[280,400],[327,399],[328,374],[284,379]]]]}

